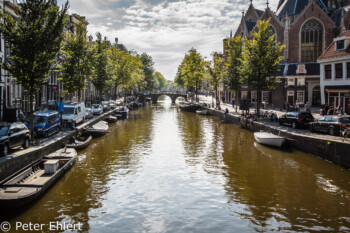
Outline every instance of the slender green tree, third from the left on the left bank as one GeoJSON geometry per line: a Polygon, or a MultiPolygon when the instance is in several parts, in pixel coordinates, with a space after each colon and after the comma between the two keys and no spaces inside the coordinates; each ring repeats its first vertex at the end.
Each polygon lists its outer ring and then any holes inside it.
{"type": "Polygon", "coordinates": [[[107,87],[108,80],[110,79],[110,73],[108,72],[108,46],[105,41],[102,40],[100,32],[96,33],[97,40],[94,48],[94,64],[93,64],[93,77],[92,83],[94,84],[99,94],[107,87]]]}

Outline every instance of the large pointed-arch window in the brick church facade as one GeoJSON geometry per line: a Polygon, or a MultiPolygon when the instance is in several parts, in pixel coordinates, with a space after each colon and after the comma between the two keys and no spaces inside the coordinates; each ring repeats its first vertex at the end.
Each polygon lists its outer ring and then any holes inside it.
{"type": "Polygon", "coordinates": [[[316,20],[310,20],[301,29],[301,61],[316,61],[323,50],[323,29],[316,20]]]}

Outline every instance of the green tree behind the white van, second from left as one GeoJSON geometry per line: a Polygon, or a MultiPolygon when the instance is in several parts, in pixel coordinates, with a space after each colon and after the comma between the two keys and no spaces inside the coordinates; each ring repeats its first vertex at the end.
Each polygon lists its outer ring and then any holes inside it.
{"type": "Polygon", "coordinates": [[[66,32],[62,52],[65,59],[60,68],[59,81],[63,83],[66,92],[78,91],[80,102],[81,90],[85,89],[86,78],[92,73],[92,49],[86,38],[86,23],[77,24],[76,34],[66,32]]]}

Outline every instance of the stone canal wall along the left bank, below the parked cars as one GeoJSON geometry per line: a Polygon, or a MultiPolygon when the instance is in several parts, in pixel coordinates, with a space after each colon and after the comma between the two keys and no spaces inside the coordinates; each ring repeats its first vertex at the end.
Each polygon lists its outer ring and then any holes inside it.
{"type": "MultiPolygon", "coordinates": [[[[89,121],[86,121],[76,128],[79,132],[82,132],[85,127],[89,127],[96,124],[111,115],[113,110],[101,114],[89,121]]],[[[13,153],[0,158],[0,181],[4,180],[8,176],[14,174],[20,169],[28,166],[34,161],[64,147],[64,144],[73,136],[77,134],[76,130],[59,132],[58,134],[52,135],[48,139],[43,139],[43,142],[38,146],[31,146],[25,150],[17,150],[13,153]]]]}

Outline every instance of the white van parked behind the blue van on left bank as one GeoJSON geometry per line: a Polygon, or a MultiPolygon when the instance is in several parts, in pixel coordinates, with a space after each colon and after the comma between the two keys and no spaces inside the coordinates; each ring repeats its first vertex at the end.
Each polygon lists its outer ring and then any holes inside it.
{"type": "Polygon", "coordinates": [[[65,104],[62,119],[65,122],[73,122],[74,124],[83,122],[85,120],[84,102],[65,104]]]}

